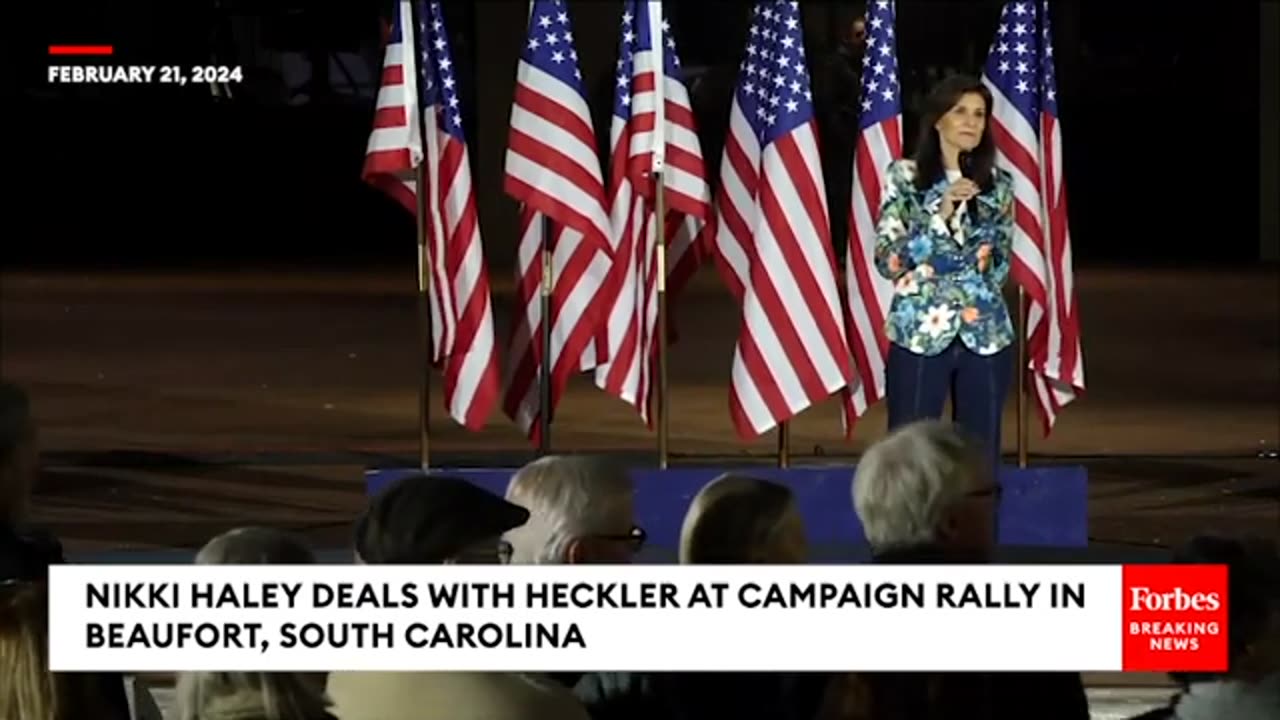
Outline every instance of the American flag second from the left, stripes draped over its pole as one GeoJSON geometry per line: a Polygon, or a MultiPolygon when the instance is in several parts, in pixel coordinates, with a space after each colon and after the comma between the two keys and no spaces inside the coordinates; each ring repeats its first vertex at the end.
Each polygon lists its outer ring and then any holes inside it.
{"type": "Polygon", "coordinates": [[[530,3],[529,35],[511,108],[504,190],[522,205],[517,307],[503,409],[538,443],[544,220],[550,220],[553,236],[552,356],[545,360],[552,407],[575,372],[608,359],[600,300],[608,297],[614,243],[591,113],[562,0],[530,3]]]}

